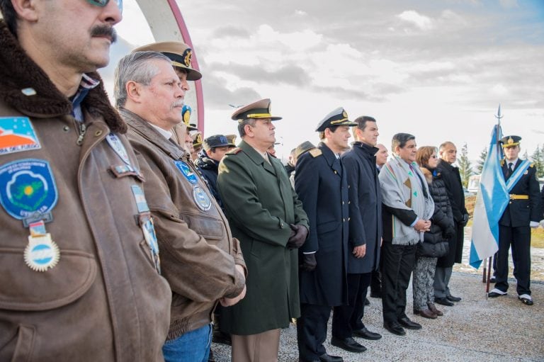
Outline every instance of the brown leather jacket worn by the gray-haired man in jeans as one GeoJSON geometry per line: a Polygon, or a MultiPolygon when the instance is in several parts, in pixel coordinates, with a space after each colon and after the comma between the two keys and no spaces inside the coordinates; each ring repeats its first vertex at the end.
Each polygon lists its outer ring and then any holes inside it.
{"type": "Polygon", "coordinates": [[[242,292],[245,269],[239,242],[190,154],[166,140],[146,120],[121,108],[127,133],[145,176],[163,276],[173,290],[169,339],[203,327],[219,298],[242,292]]]}

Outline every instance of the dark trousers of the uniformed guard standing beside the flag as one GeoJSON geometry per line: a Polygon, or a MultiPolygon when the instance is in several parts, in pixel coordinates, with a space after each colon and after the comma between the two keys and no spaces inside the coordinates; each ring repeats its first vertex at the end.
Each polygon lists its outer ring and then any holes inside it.
{"type": "Polygon", "coordinates": [[[499,251],[497,252],[497,273],[495,288],[508,290],[508,252],[512,247],[514,278],[518,281],[518,295],[531,295],[531,228],[528,226],[509,227],[499,225],[499,251]]]}

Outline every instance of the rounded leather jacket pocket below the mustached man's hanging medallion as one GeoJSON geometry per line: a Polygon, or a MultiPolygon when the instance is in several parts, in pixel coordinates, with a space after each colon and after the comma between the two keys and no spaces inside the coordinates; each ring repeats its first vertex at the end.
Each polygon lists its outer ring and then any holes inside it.
{"type": "Polygon", "coordinates": [[[0,248],[0,309],[50,310],[74,302],[96,278],[96,260],[84,251],[61,249],[59,264],[47,271],[26,266],[23,249],[0,248]]]}

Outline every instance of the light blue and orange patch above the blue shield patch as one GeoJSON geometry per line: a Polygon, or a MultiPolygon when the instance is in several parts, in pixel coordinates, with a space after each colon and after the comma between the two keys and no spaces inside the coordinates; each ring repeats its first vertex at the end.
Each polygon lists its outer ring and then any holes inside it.
{"type": "Polygon", "coordinates": [[[0,154],[40,148],[40,141],[28,117],[0,117],[0,154]]]}

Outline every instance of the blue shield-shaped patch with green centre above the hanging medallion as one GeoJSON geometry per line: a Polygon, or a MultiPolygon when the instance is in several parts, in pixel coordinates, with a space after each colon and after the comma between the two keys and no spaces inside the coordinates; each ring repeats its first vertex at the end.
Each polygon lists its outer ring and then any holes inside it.
{"type": "Polygon", "coordinates": [[[18,220],[50,213],[58,200],[49,162],[21,159],[0,166],[0,204],[18,220]]]}

